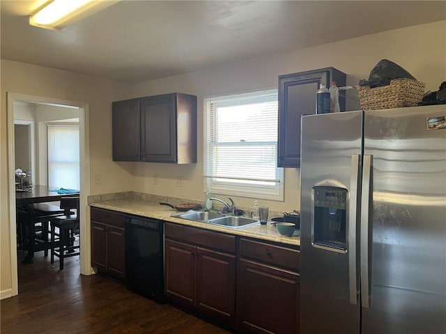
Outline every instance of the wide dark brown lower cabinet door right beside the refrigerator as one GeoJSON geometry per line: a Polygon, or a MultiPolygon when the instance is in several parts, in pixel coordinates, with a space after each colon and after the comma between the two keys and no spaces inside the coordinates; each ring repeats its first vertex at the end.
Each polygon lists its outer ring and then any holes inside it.
{"type": "Polygon", "coordinates": [[[299,333],[299,275],[240,260],[238,324],[248,333],[299,333]]]}

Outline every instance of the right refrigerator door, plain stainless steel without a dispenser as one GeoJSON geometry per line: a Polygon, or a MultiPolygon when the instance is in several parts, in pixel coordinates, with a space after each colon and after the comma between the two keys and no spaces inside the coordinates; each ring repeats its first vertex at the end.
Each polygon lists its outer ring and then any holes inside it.
{"type": "Polygon", "coordinates": [[[366,111],[364,155],[373,202],[361,333],[446,333],[446,107],[366,111]]]}

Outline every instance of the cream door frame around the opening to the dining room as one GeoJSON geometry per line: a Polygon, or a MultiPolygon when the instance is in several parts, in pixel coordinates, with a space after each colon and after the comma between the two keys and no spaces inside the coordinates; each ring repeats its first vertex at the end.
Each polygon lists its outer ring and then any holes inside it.
{"type": "Polygon", "coordinates": [[[91,268],[91,241],[90,241],[90,220],[87,197],[90,194],[90,145],[89,145],[89,104],[85,102],[75,102],[60,100],[53,97],[40,97],[35,95],[24,95],[8,93],[7,96],[7,126],[8,126],[8,183],[9,183],[9,244],[10,244],[10,273],[12,296],[19,293],[18,273],[17,273],[17,238],[15,224],[15,139],[14,139],[14,103],[16,101],[28,102],[31,104],[52,104],[60,106],[75,106],[79,108],[79,173],[80,173],[80,273],[91,275],[94,273],[91,268]],[[82,209],[83,208],[83,209],[82,209]]]}

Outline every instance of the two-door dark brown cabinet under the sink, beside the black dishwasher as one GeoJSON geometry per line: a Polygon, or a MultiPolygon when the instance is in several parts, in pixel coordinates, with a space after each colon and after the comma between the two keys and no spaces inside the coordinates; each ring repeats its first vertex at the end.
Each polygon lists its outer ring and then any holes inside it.
{"type": "Polygon", "coordinates": [[[164,291],[174,303],[233,328],[236,241],[227,234],[165,224],[164,291]]]}

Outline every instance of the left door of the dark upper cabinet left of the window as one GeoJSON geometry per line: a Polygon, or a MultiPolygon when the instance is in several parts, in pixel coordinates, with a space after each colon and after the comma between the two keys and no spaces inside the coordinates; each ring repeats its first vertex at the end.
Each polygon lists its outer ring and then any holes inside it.
{"type": "Polygon", "coordinates": [[[112,118],[113,161],[139,161],[139,100],[113,102],[112,118]]]}

